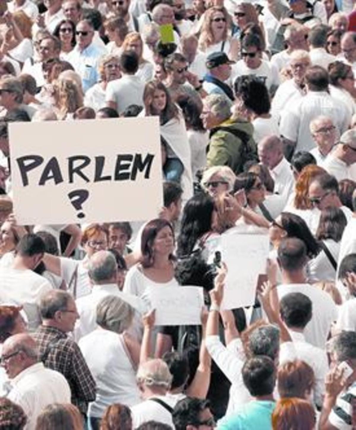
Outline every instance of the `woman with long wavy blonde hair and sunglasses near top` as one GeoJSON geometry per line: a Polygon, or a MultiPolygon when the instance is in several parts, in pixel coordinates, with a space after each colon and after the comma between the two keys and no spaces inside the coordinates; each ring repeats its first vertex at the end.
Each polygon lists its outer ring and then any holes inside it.
{"type": "Polygon", "coordinates": [[[225,52],[231,60],[239,56],[239,42],[229,36],[230,15],[224,7],[213,6],[204,13],[199,49],[206,55],[225,52]]]}

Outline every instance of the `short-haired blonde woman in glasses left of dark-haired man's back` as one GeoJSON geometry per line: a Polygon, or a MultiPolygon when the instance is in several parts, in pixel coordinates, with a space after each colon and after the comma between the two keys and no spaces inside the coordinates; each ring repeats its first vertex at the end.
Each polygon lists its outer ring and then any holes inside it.
{"type": "Polygon", "coordinates": [[[108,54],[100,58],[98,65],[100,82],[93,85],[85,93],[84,105],[86,107],[92,107],[95,111],[106,107],[105,92],[107,83],[121,77],[119,63],[120,58],[117,55],[108,54]]]}

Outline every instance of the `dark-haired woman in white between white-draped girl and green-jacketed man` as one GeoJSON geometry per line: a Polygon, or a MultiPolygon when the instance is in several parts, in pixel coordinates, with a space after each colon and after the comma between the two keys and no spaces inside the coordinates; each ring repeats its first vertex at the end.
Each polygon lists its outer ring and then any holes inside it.
{"type": "Polygon", "coordinates": [[[206,147],[209,142],[209,134],[204,129],[200,118],[201,108],[191,98],[178,98],[177,101],[182,110],[185,126],[187,127],[188,141],[191,151],[191,165],[193,180],[196,173],[206,166],[206,147]]]}

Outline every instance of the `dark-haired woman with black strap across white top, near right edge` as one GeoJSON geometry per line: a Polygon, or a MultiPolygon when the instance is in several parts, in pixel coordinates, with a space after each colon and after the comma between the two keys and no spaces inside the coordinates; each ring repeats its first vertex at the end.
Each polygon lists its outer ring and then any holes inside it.
{"type": "Polygon", "coordinates": [[[335,281],[337,261],[341,245],[341,237],[347,220],[339,208],[323,209],[320,215],[316,239],[319,240],[323,252],[320,252],[308,264],[309,280],[335,281]]]}

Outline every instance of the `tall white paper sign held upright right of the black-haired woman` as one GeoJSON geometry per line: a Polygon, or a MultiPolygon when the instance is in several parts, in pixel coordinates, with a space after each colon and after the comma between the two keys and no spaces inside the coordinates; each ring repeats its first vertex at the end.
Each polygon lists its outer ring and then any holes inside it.
{"type": "Polygon", "coordinates": [[[221,257],[227,264],[223,309],[255,304],[258,276],[266,271],[267,234],[222,234],[221,257]]]}

